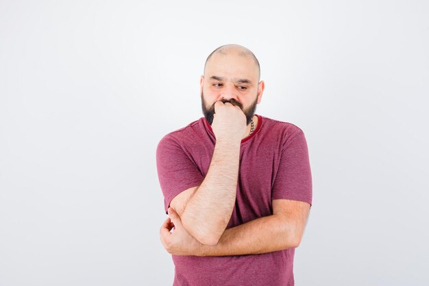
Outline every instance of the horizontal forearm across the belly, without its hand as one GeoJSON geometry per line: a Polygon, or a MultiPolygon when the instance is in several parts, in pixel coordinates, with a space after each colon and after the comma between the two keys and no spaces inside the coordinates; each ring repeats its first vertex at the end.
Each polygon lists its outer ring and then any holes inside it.
{"type": "Polygon", "coordinates": [[[201,245],[201,256],[261,254],[299,245],[293,224],[278,215],[260,217],[228,228],[215,246],[201,245]]]}

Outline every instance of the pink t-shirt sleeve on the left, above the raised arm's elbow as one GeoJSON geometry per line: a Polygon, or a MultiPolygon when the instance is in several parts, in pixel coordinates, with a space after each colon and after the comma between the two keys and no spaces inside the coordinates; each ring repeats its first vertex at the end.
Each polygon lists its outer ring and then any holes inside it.
{"type": "Polygon", "coordinates": [[[164,136],[158,143],[156,167],[164,195],[165,213],[176,195],[191,187],[199,186],[204,179],[193,160],[171,134],[164,136]]]}

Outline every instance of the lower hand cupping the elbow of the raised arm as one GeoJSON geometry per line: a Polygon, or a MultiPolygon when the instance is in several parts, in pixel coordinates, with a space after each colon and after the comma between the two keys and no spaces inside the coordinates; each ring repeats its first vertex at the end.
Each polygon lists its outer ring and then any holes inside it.
{"type": "Polygon", "coordinates": [[[162,245],[170,254],[202,256],[203,244],[186,231],[182,226],[179,215],[173,208],[169,208],[169,218],[165,220],[160,228],[160,239],[162,245]],[[170,233],[173,228],[173,233],[170,233]]]}

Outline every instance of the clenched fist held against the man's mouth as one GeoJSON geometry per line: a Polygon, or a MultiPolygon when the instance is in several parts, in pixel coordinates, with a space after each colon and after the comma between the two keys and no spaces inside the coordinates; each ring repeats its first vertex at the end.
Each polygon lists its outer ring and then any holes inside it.
{"type": "Polygon", "coordinates": [[[239,106],[234,106],[229,102],[215,103],[212,130],[216,140],[237,139],[241,141],[246,127],[246,116],[239,106]]]}

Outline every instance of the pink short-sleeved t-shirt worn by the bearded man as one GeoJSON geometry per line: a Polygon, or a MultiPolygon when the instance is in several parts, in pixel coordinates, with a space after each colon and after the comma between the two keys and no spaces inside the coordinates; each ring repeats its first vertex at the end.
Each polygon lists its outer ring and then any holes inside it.
{"type": "MultiPolygon", "coordinates": [[[[241,141],[236,203],[227,228],[273,214],[271,201],[312,204],[312,180],[304,132],[258,115],[255,131],[241,141]]],[[[180,192],[204,180],[215,134],[204,117],[164,136],[156,151],[164,210],[180,192]]],[[[295,248],[225,257],[173,255],[173,286],[294,285],[295,248]]]]}

